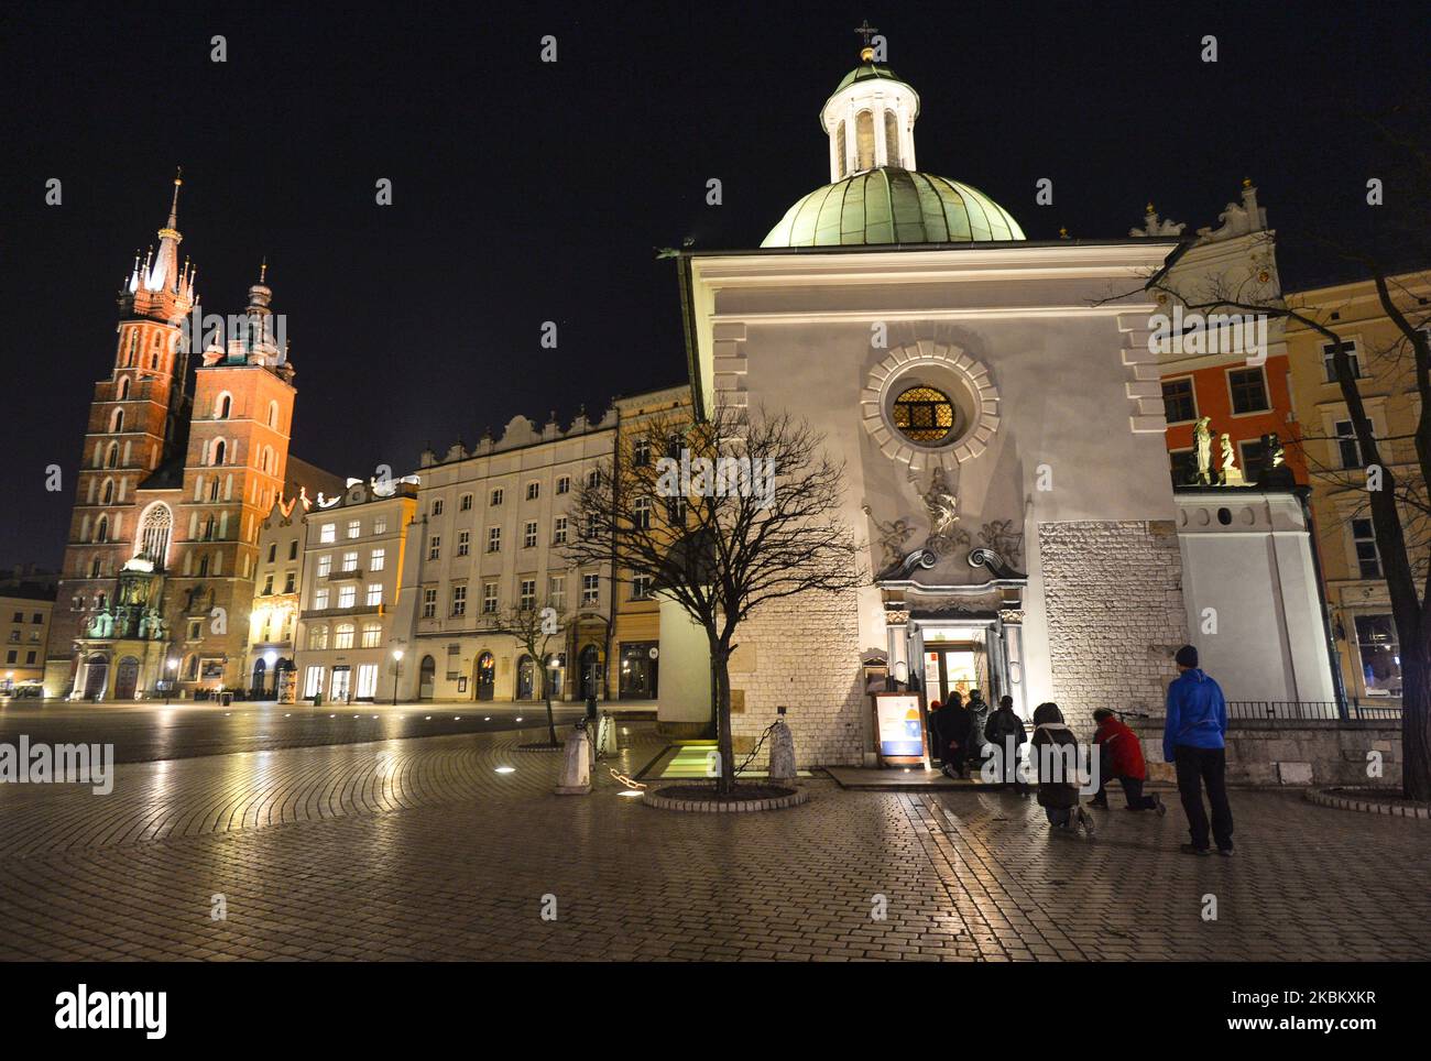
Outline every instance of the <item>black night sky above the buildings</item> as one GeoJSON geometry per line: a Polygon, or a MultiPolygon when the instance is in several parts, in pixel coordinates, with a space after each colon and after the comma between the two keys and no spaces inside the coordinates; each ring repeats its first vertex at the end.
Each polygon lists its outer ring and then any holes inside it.
{"type": "Polygon", "coordinates": [[[864,19],[922,96],[920,169],[1030,239],[1125,236],[1149,199],[1192,233],[1252,177],[1286,286],[1349,277],[1311,233],[1398,253],[1364,202],[1384,159],[1358,114],[1422,92],[1420,6],[766,7],[7,6],[0,565],[60,561],[114,295],[176,164],[205,312],[239,312],[268,257],[292,452],[355,476],[683,382],[675,272],[653,249],[757,246],[827,182],[817,114],[864,19]],[[1033,204],[1039,177],[1053,206],[1033,204]]]}

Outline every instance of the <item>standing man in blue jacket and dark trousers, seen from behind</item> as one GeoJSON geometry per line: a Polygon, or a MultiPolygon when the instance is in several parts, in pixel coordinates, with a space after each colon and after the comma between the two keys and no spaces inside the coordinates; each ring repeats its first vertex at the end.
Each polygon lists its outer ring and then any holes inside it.
{"type": "Polygon", "coordinates": [[[1219,855],[1232,855],[1232,808],[1228,806],[1226,745],[1228,704],[1218,684],[1198,669],[1198,649],[1183,645],[1175,656],[1178,678],[1168,686],[1168,722],[1163,726],[1163,762],[1178,765],[1178,795],[1188,815],[1189,855],[1209,855],[1208,812],[1202,788],[1212,804],[1212,838],[1219,855]]]}

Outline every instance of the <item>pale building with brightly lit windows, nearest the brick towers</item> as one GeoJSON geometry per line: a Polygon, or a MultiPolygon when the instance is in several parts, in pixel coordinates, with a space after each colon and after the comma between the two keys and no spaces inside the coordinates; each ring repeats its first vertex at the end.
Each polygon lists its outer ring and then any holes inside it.
{"type": "Polygon", "coordinates": [[[349,480],[303,518],[296,696],[323,704],[394,695],[406,639],[394,626],[416,483],[349,480]]]}

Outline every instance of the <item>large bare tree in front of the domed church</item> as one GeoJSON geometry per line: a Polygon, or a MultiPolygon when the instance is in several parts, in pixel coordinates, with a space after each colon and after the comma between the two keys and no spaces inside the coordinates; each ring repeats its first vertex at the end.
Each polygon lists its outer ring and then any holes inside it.
{"type": "Polygon", "coordinates": [[[740,623],[770,601],[867,581],[839,516],[843,493],[844,465],[806,422],[717,406],[695,422],[644,418],[575,495],[567,556],[648,581],[705,632],[718,792],[736,786],[730,658],[740,623]]]}

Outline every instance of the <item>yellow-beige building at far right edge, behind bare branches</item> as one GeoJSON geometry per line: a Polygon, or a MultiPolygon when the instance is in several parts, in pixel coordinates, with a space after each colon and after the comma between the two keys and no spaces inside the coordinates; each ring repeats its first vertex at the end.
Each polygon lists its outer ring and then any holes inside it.
{"type": "MultiPolygon", "coordinates": [[[[1422,327],[1431,322],[1431,272],[1391,277],[1390,287],[1408,320],[1422,327]]],[[[1417,483],[1424,492],[1415,463],[1421,402],[1411,349],[1385,315],[1375,285],[1368,279],[1289,292],[1286,302],[1349,345],[1382,462],[1402,482],[1417,483]]],[[[1397,629],[1371,528],[1365,462],[1335,382],[1335,350],[1325,336],[1296,322],[1288,322],[1286,349],[1292,403],[1312,488],[1317,549],[1345,692],[1361,704],[1397,705],[1401,698],[1397,629]]],[[[1424,579],[1431,528],[1405,506],[1402,519],[1408,526],[1412,562],[1424,579]]]]}

